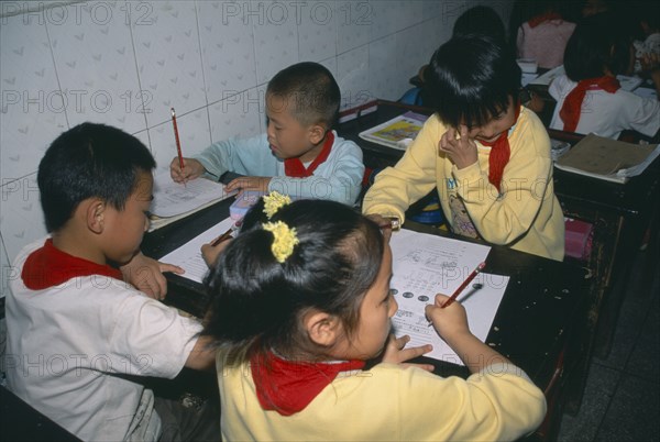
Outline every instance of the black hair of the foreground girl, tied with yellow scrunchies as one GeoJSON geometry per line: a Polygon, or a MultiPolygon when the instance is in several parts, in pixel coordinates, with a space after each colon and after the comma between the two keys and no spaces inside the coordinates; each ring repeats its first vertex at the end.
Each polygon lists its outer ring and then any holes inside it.
{"type": "Polygon", "coordinates": [[[384,254],[372,220],[340,202],[297,200],[270,220],[296,229],[299,240],[279,263],[271,251],[273,233],[263,229],[268,221],[263,209],[260,201],[248,212],[239,236],[205,280],[213,301],[204,333],[235,363],[268,350],[283,356],[314,353],[300,330],[301,314],[310,309],[337,316],[350,335],[384,254]]]}

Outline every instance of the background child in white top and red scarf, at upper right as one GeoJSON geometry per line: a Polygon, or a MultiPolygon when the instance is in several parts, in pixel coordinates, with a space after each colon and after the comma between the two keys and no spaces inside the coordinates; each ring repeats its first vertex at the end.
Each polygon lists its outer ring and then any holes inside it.
{"type": "MultiPolygon", "coordinates": [[[[653,136],[660,129],[660,102],[623,90],[616,79],[629,74],[634,62],[629,29],[616,23],[615,15],[601,13],[575,27],[564,55],[565,75],[549,87],[557,100],[550,128],[610,139],[624,130],[653,136]]],[[[658,81],[658,65],[652,69],[658,81]]]]}

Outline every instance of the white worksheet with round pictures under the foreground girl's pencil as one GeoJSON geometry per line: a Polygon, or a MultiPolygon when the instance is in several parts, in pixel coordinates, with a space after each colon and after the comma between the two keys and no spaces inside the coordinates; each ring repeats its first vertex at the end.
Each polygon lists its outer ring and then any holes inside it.
{"type": "MultiPolygon", "coordinates": [[[[426,354],[440,361],[463,365],[453,350],[438,335],[425,316],[425,307],[437,294],[450,296],[461,283],[486,261],[491,247],[442,236],[400,230],[392,235],[392,289],[398,311],[392,322],[397,336],[408,334],[407,346],[431,344],[426,354]]],[[[468,311],[470,330],[485,341],[504,296],[507,276],[480,274],[457,299],[468,311]]]]}

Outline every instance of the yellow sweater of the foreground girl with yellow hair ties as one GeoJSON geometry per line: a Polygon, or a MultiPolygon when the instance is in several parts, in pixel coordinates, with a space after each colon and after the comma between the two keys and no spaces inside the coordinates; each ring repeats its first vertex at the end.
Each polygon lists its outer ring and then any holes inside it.
{"type": "Polygon", "coordinates": [[[248,365],[220,369],[218,383],[222,439],[232,442],[504,441],[534,431],[546,415],[542,391],[504,364],[468,379],[394,364],[340,373],[292,416],[261,408],[248,365]]]}

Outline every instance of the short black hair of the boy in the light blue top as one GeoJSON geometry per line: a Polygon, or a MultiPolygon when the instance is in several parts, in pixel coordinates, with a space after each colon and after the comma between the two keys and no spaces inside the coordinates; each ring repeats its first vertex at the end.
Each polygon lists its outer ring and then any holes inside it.
{"type": "Polygon", "coordinates": [[[268,82],[266,95],[278,96],[290,106],[289,113],[302,125],[332,128],[341,93],[332,73],[318,63],[302,62],[278,71],[268,82]]]}

